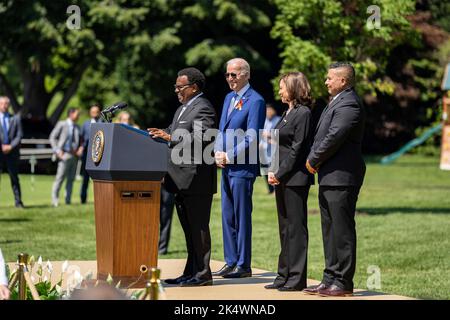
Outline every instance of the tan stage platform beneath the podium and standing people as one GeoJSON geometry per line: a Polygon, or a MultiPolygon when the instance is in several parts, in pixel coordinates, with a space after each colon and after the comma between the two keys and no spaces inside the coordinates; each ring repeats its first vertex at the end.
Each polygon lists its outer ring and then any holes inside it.
{"type": "MultiPolygon", "coordinates": [[[[184,269],[184,259],[159,259],[161,279],[178,277],[184,269]]],[[[221,261],[211,261],[211,269],[218,270],[223,266],[221,261]]],[[[14,268],[14,263],[10,263],[14,268]]],[[[45,265],[45,263],[44,263],[45,265]]],[[[52,282],[57,282],[61,274],[62,261],[52,262],[52,282]]],[[[69,271],[78,269],[82,276],[92,272],[96,276],[96,261],[69,261],[69,271]]],[[[36,266],[34,268],[36,271],[36,266]]],[[[165,285],[168,300],[409,300],[412,298],[356,289],[352,297],[328,298],[308,295],[302,292],[279,292],[264,289],[264,285],[273,281],[276,274],[267,270],[253,268],[253,277],[243,279],[214,278],[214,285],[207,287],[179,287],[165,285]]],[[[35,272],[33,272],[34,274],[35,272]]],[[[44,273],[45,275],[46,273],[44,273]]],[[[36,277],[36,275],[33,275],[36,277]]],[[[67,278],[67,276],[65,277],[67,278]]],[[[308,279],[308,286],[318,284],[318,281],[308,279]]],[[[65,283],[63,282],[63,288],[65,283]]]]}

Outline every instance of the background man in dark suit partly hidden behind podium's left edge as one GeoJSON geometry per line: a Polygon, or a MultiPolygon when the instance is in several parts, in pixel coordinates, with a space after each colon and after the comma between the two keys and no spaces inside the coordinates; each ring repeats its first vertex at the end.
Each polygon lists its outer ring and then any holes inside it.
{"type": "Polygon", "coordinates": [[[81,139],[83,145],[83,154],[81,156],[81,189],[80,189],[80,200],[81,203],[86,203],[88,187],[89,187],[89,174],[86,171],[86,160],[88,154],[89,137],[91,136],[91,124],[102,122],[100,119],[100,112],[102,112],[102,107],[99,104],[93,104],[89,108],[90,119],[86,120],[81,126],[81,139]]]}

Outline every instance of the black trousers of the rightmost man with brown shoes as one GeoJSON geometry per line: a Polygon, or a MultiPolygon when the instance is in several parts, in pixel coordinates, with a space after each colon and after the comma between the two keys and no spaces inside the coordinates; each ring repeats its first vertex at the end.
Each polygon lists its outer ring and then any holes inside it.
{"type": "Polygon", "coordinates": [[[356,267],[355,210],[360,187],[319,187],[325,270],[322,281],[353,290],[356,267]]]}

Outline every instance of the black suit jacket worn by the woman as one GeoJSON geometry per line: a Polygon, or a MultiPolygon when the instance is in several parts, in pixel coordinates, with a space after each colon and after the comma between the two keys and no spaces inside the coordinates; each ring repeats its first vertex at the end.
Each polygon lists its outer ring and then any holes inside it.
{"type": "MultiPolygon", "coordinates": [[[[312,141],[311,121],[310,109],[296,105],[289,114],[285,112],[276,124],[274,129],[278,135],[279,168],[275,171],[275,177],[280,183],[287,186],[314,184],[314,176],[305,167],[312,141]]],[[[277,163],[276,154],[273,161],[272,166],[277,163]]]]}

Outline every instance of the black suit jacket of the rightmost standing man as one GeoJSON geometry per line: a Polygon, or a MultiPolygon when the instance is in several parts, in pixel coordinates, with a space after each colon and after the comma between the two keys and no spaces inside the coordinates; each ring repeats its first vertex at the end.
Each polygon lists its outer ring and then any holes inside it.
{"type": "Polygon", "coordinates": [[[322,186],[361,186],[366,165],[361,153],[365,110],[353,88],[324,109],[316,127],[309,163],[322,186]]]}

